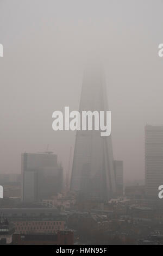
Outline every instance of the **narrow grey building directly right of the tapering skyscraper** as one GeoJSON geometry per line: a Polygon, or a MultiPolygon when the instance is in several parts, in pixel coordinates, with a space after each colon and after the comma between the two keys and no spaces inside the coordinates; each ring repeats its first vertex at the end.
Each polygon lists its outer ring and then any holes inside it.
{"type": "Polygon", "coordinates": [[[114,161],[117,195],[123,195],[123,161],[114,161]]]}

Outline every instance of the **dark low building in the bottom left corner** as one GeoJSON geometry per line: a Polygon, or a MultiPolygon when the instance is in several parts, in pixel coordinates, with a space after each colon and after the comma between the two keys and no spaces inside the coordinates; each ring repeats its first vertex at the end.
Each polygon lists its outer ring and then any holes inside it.
{"type": "Polygon", "coordinates": [[[14,234],[14,225],[8,220],[0,218],[0,245],[9,245],[12,243],[12,235],[14,234]]]}

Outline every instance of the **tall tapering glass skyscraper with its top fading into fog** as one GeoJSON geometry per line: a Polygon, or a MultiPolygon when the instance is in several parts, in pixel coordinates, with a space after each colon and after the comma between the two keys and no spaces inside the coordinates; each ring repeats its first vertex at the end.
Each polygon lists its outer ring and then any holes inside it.
{"type": "MultiPolygon", "coordinates": [[[[79,112],[108,110],[102,70],[98,65],[89,66],[84,72],[79,112]]],[[[103,200],[116,192],[111,136],[101,137],[96,130],[77,131],[71,190],[103,200]]]]}

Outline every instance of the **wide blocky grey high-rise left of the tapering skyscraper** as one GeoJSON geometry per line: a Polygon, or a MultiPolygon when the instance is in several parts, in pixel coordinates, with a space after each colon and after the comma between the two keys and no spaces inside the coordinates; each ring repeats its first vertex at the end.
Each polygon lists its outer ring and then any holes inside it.
{"type": "Polygon", "coordinates": [[[22,154],[21,196],[23,202],[37,202],[62,191],[63,170],[51,152],[22,154]]]}

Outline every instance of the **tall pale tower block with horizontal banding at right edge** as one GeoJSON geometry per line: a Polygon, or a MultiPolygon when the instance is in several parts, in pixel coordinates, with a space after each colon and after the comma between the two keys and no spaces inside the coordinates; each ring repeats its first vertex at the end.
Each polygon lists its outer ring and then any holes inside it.
{"type": "Polygon", "coordinates": [[[163,185],[163,126],[145,127],[146,196],[158,199],[158,187],[163,185]]]}

